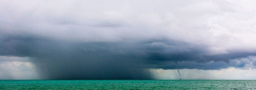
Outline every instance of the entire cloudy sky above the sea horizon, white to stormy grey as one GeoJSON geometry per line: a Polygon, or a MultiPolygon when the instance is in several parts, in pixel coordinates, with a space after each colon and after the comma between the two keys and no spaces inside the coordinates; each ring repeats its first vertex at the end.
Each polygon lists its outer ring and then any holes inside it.
{"type": "Polygon", "coordinates": [[[255,5],[0,0],[0,79],[256,80],[255,5]]]}

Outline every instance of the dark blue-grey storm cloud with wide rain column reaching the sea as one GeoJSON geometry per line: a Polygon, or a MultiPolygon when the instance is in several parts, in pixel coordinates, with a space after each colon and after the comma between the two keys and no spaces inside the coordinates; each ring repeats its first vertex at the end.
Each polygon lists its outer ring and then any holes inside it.
{"type": "Polygon", "coordinates": [[[6,36],[2,41],[1,55],[32,57],[45,79],[151,79],[146,68],[176,69],[178,62],[180,69],[221,69],[232,58],[251,55],[208,55],[205,46],[166,39],[83,43],[6,36]]]}

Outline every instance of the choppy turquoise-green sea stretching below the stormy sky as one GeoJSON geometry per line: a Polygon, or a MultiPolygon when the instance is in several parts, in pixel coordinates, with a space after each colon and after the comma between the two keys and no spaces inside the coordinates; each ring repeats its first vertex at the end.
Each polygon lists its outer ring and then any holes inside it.
{"type": "Polygon", "coordinates": [[[0,90],[256,90],[256,80],[0,80],[0,90]]]}

